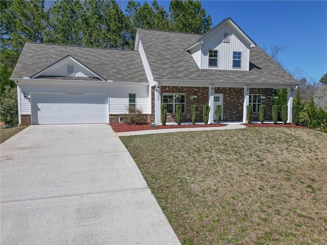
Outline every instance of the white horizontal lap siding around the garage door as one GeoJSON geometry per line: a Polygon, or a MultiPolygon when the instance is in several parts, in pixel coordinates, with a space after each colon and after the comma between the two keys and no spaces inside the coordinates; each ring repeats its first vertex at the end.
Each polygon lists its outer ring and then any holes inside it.
{"type": "Polygon", "coordinates": [[[136,106],[142,108],[143,113],[148,114],[148,86],[140,84],[116,84],[116,83],[83,83],[83,82],[49,82],[49,81],[24,81],[19,83],[21,114],[31,114],[31,93],[86,93],[108,94],[109,113],[120,114],[126,112],[128,106],[128,94],[136,94],[136,106]],[[24,94],[28,96],[24,98],[24,94]]]}

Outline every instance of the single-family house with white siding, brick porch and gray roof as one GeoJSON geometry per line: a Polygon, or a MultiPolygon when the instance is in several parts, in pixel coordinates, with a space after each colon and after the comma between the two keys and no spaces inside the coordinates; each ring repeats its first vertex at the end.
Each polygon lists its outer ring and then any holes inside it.
{"type": "Polygon", "coordinates": [[[275,88],[288,89],[292,122],[298,84],[231,18],[204,35],[137,29],[134,50],[26,43],[11,80],[21,125],[115,122],[128,106],[160,125],[161,104],[168,122],[178,104],[183,121],[191,121],[193,104],[198,121],[202,105],[210,106],[209,124],[217,105],[223,121],[246,122],[247,105],[259,119],[262,104],[271,119],[275,88]]]}

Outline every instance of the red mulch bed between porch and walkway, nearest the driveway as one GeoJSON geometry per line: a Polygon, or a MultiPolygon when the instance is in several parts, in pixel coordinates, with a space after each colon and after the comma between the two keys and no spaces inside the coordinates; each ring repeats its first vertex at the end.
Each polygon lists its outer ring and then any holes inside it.
{"type": "Polygon", "coordinates": [[[188,125],[166,125],[152,127],[150,124],[110,124],[114,132],[130,132],[139,130],[153,130],[153,129],[182,129],[182,128],[204,128],[204,127],[224,127],[225,124],[188,124],[188,125]]]}

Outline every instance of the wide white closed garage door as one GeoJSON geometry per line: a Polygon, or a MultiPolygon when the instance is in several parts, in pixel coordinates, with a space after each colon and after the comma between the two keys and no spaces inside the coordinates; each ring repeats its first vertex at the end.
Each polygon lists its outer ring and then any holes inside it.
{"type": "Polygon", "coordinates": [[[108,123],[108,95],[33,93],[32,124],[108,123]]]}

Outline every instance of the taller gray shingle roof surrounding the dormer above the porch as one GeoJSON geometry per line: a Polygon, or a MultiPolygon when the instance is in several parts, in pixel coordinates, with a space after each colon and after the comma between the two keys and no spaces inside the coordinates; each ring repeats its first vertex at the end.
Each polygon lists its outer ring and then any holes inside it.
{"type": "Polygon", "coordinates": [[[260,47],[250,48],[250,70],[200,69],[185,48],[201,35],[137,29],[154,79],[219,82],[297,82],[260,47]]]}

